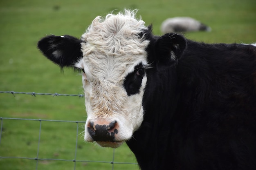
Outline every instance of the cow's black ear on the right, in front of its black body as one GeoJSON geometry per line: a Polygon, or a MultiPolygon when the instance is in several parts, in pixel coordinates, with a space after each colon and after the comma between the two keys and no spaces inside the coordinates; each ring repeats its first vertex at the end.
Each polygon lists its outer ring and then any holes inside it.
{"type": "Polygon", "coordinates": [[[182,56],[186,49],[186,38],[180,34],[166,33],[155,42],[157,60],[164,65],[170,65],[182,56]]]}

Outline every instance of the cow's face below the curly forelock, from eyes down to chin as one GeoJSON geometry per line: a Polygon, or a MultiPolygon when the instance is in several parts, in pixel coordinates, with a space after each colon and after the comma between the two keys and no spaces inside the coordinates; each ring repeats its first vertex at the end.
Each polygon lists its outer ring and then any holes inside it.
{"type": "MultiPolygon", "coordinates": [[[[82,44],[83,49],[86,45],[82,44]]],[[[83,53],[83,88],[87,122],[85,141],[117,147],[132,137],[143,120],[146,53],[112,56],[83,53]],[[114,123],[113,123],[114,122],[114,123]],[[103,134],[102,134],[103,133],[103,134]],[[105,135],[107,133],[107,135],[105,135]]]]}

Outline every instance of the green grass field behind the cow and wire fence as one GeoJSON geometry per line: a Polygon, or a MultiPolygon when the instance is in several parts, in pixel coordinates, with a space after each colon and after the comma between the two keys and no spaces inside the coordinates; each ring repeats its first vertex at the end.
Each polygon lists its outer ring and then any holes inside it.
{"type": "MultiPolygon", "coordinates": [[[[146,24],[160,35],[163,20],[190,16],[211,26],[211,32],[186,33],[186,38],[207,43],[256,42],[255,0],[1,0],[0,91],[82,94],[81,76],[60,69],[36,48],[45,35],[80,37],[98,15],[124,8],[139,9],[146,24]]],[[[36,97],[0,93],[0,117],[85,121],[84,98],[36,97]]],[[[3,120],[0,157],[36,157],[39,122],[3,120]]],[[[79,134],[83,124],[79,124],[79,134]]],[[[40,158],[74,159],[76,124],[42,122],[40,158]]],[[[100,148],[78,136],[77,160],[112,161],[113,150],[100,148]]],[[[115,162],[133,162],[124,145],[115,150],[115,162]]],[[[0,159],[0,170],[34,170],[36,161],[0,159]]],[[[38,170],[73,170],[73,162],[39,161],[38,170]]],[[[76,163],[76,170],[111,170],[110,163],[76,163]]],[[[137,165],[115,164],[115,170],[135,170],[137,165]]]]}

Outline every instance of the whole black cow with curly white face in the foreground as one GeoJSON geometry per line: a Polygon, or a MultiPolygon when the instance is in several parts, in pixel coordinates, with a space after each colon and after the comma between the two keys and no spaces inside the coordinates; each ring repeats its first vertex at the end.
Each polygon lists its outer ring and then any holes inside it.
{"type": "Polygon", "coordinates": [[[256,47],[154,36],[136,12],[38,42],[83,71],[85,141],[126,142],[141,170],[256,170],[256,47]]]}

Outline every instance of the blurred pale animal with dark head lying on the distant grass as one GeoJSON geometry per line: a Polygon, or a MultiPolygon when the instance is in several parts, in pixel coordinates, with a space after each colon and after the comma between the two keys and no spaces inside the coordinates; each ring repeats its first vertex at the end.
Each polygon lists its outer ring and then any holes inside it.
{"type": "Polygon", "coordinates": [[[160,29],[162,33],[211,31],[211,27],[191,17],[167,18],[162,22],[160,29]]]}

